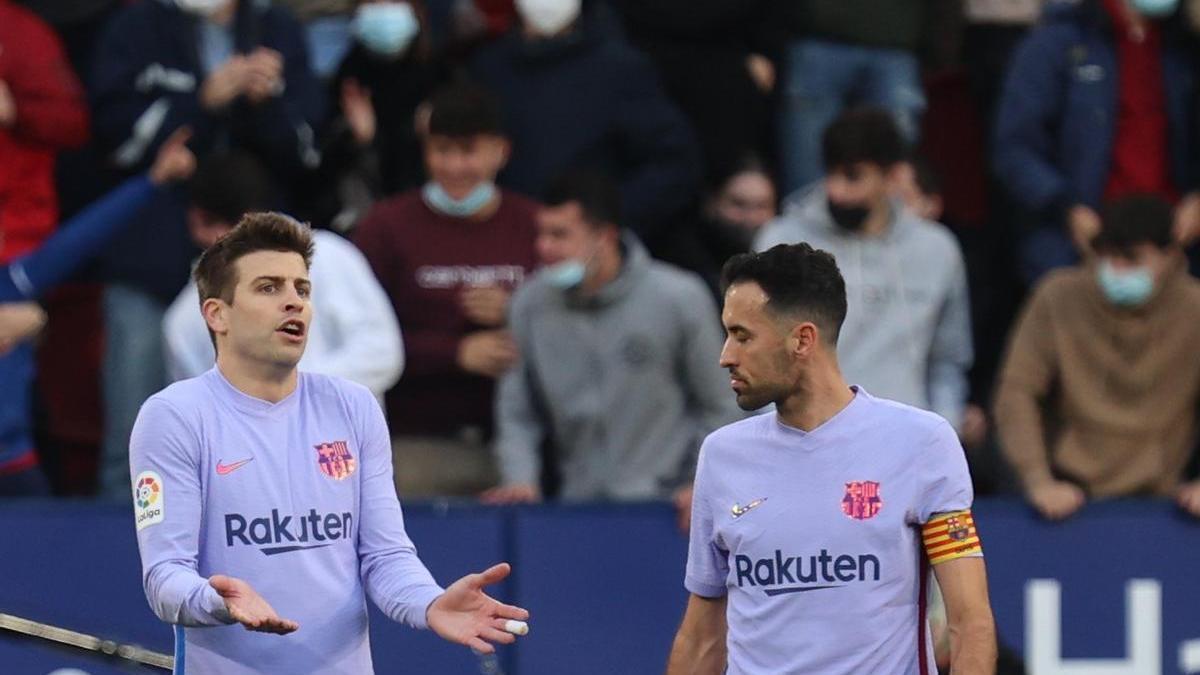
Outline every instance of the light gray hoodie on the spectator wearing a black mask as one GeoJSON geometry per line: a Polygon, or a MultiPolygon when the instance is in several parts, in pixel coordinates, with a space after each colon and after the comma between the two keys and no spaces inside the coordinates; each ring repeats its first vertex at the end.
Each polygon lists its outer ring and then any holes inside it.
{"type": "Polygon", "coordinates": [[[966,268],[943,226],[899,202],[878,237],[846,232],[829,216],[821,183],[788,197],[754,249],[806,241],[833,253],[846,280],[838,339],[842,374],[871,394],[922,407],[958,428],[973,359],[966,268]]]}

